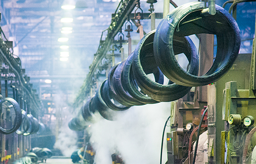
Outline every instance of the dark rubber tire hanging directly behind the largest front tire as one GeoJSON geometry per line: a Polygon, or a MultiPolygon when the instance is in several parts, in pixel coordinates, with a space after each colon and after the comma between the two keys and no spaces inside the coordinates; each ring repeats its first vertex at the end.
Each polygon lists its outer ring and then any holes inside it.
{"type": "MultiPolygon", "coordinates": [[[[154,35],[155,30],[149,32],[136,46],[132,61],[133,75],[140,89],[149,97],[161,102],[174,101],[187,94],[191,87],[177,85],[176,83],[171,85],[162,85],[147,77],[144,71],[146,68],[144,67],[158,67],[154,58],[154,35]]],[[[184,50],[183,53],[188,58],[189,73],[197,75],[199,70],[199,58],[195,45],[189,37],[177,39],[179,39],[176,41],[178,42],[177,44],[180,44],[180,47],[182,47],[181,50],[184,50]]],[[[180,47],[178,48],[180,49],[180,47]]],[[[177,50],[177,52],[180,52],[180,50],[177,50]]]]}

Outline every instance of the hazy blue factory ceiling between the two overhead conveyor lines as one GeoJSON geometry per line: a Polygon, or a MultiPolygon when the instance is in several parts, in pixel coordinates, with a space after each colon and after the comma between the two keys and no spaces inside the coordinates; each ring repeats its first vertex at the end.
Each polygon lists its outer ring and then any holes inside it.
{"type": "Polygon", "coordinates": [[[109,27],[111,14],[118,3],[102,0],[1,0],[0,26],[6,38],[13,41],[14,54],[21,59],[30,82],[40,94],[55,93],[56,90],[78,91],[98,49],[102,31],[109,27]],[[76,8],[62,9],[67,2],[74,3],[76,8]],[[73,21],[63,23],[63,17],[70,17],[73,21]],[[63,27],[71,27],[72,33],[62,33],[63,27]],[[58,42],[59,38],[68,38],[68,41],[58,42]],[[63,45],[69,48],[61,49],[63,45]],[[60,61],[63,51],[64,57],[69,55],[68,61],[60,61]],[[46,84],[45,79],[52,83],[46,84]]]}

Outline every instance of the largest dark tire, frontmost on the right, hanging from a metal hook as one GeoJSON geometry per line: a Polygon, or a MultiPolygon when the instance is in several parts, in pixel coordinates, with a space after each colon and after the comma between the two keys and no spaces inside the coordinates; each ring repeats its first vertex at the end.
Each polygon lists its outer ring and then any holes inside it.
{"type": "Polygon", "coordinates": [[[234,18],[215,5],[216,14],[203,11],[204,2],[191,2],[175,8],[158,25],[154,38],[157,65],[171,81],[184,86],[203,86],[213,83],[229,71],[240,48],[240,30],[234,18]],[[210,70],[203,76],[184,71],[174,56],[174,36],[215,34],[217,55],[210,70]]]}

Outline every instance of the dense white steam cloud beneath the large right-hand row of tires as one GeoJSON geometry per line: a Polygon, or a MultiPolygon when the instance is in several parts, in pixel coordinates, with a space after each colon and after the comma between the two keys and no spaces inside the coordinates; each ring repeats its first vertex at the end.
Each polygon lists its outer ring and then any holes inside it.
{"type": "MultiPolygon", "coordinates": [[[[170,116],[170,102],[133,106],[117,121],[102,119],[88,128],[96,150],[96,163],[111,164],[111,155],[120,152],[125,164],[155,164],[160,161],[163,126],[170,116]]],[[[166,128],[166,132],[170,128],[166,128]]],[[[166,136],[163,161],[167,161],[166,136]]]]}

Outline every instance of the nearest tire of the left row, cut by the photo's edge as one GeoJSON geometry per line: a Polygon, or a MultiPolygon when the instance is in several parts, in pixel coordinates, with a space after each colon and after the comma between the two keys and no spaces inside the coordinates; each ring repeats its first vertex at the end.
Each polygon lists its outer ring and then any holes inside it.
{"type": "Polygon", "coordinates": [[[15,132],[17,129],[19,129],[21,122],[22,122],[22,113],[21,113],[20,106],[19,106],[18,102],[15,101],[15,99],[10,98],[10,97],[1,99],[0,100],[0,113],[1,113],[0,133],[11,134],[11,133],[15,132]],[[5,108],[6,111],[3,111],[3,108],[5,108]],[[12,118],[13,113],[11,113],[11,112],[15,113],[14,119],[12,118]],[[9,119],[9,118],[7,118],[8,115],[10,116],[11,120],[4,121],[4,119],[5,120],[9,119]],[[4,118],[4,117],[6,117],[6,118],[4,118]],[[10,123],[10,128],[8,128],[8,129],[6,129],[5,127],[2,127],[2,123],[4,124],[4,126],[6,126],[5,123],[7,123],[7,122],[10,123]]]}

